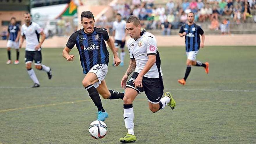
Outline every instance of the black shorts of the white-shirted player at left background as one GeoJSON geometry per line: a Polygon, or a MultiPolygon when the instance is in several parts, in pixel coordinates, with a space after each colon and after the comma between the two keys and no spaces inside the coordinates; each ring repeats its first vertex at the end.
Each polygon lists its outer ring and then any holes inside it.
{"type": "Polygon", "coordinates": [[[41,65],[42,54],[41,51],[25,51],[25,63],[32,63],[35,61],[35,65],[41,65]]]}

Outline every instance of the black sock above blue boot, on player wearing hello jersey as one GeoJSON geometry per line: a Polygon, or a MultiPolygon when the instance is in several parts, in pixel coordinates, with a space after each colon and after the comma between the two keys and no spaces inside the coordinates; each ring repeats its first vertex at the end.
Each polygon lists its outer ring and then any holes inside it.
{"type": "Polygon", "coordinates": [[[99,93],[98,93],[97,89],[93,85],[89,85],[85,89],[88,91],[89,96],[93,100],[93,103],[95,104],[95,106],[97,106],[98,111],[105,112],[105,110],[103,109],[101,99],[99,97],[99,93]]]}

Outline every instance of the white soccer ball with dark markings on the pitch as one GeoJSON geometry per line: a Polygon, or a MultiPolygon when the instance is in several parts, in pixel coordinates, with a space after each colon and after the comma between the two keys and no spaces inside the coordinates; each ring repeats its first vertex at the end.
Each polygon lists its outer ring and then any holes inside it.
{"type": "Polygon", "coordinates": [[[100,121],[100,120],[95,120],[93,121],[90,126],[89,126],[89,133],[90,135],[95,138],[95,139],[99,139],[99,138],[104,138],[104,136],[106,136],[107,134],[107,125],[100,121]]]}

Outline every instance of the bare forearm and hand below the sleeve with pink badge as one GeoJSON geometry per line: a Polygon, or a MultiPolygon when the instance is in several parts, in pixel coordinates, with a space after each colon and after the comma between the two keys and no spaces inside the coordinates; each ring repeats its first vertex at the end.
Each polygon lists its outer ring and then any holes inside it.
{"type": "Polygon", "coordinates": [[[135,88],[137,87],[143,87],[142,86],[142,78],[143,76],[151,69],[151,67],[154,65],[154,63],[156,63],[157,61],[157,56],[156,55],[148,55],[148,61],[145,65],[145,67],[143,68],[143,70],[138,74],[138,77],[135,79],[134,81],[134,85],[135,88]]]}

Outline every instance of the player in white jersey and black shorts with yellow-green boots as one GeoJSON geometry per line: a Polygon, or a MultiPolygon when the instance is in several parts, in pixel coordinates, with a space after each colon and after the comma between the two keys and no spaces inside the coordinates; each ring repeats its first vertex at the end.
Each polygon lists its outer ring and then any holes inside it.
{"type": "Polygon", "coordinates": [[[127,42],[131,60],[121,81],[121,87],[125,88],[124,121],[128,129],[126,136],[119,139],[122,143],[136,141],[132,102],[139,93],[145,91],[149,109],[153,113],[163,109],[166,105],[169,105],[171,109],[176,106],[171,93],[166,92],[162,98],[163,74],[155,36],[145,30],[141,31],[141,22],[136,16],[130,16],[127,19],[126,29],[131,37],[127,42]],[[128,76],[133,71],[134,73],[126,84],[128,76]]]}

